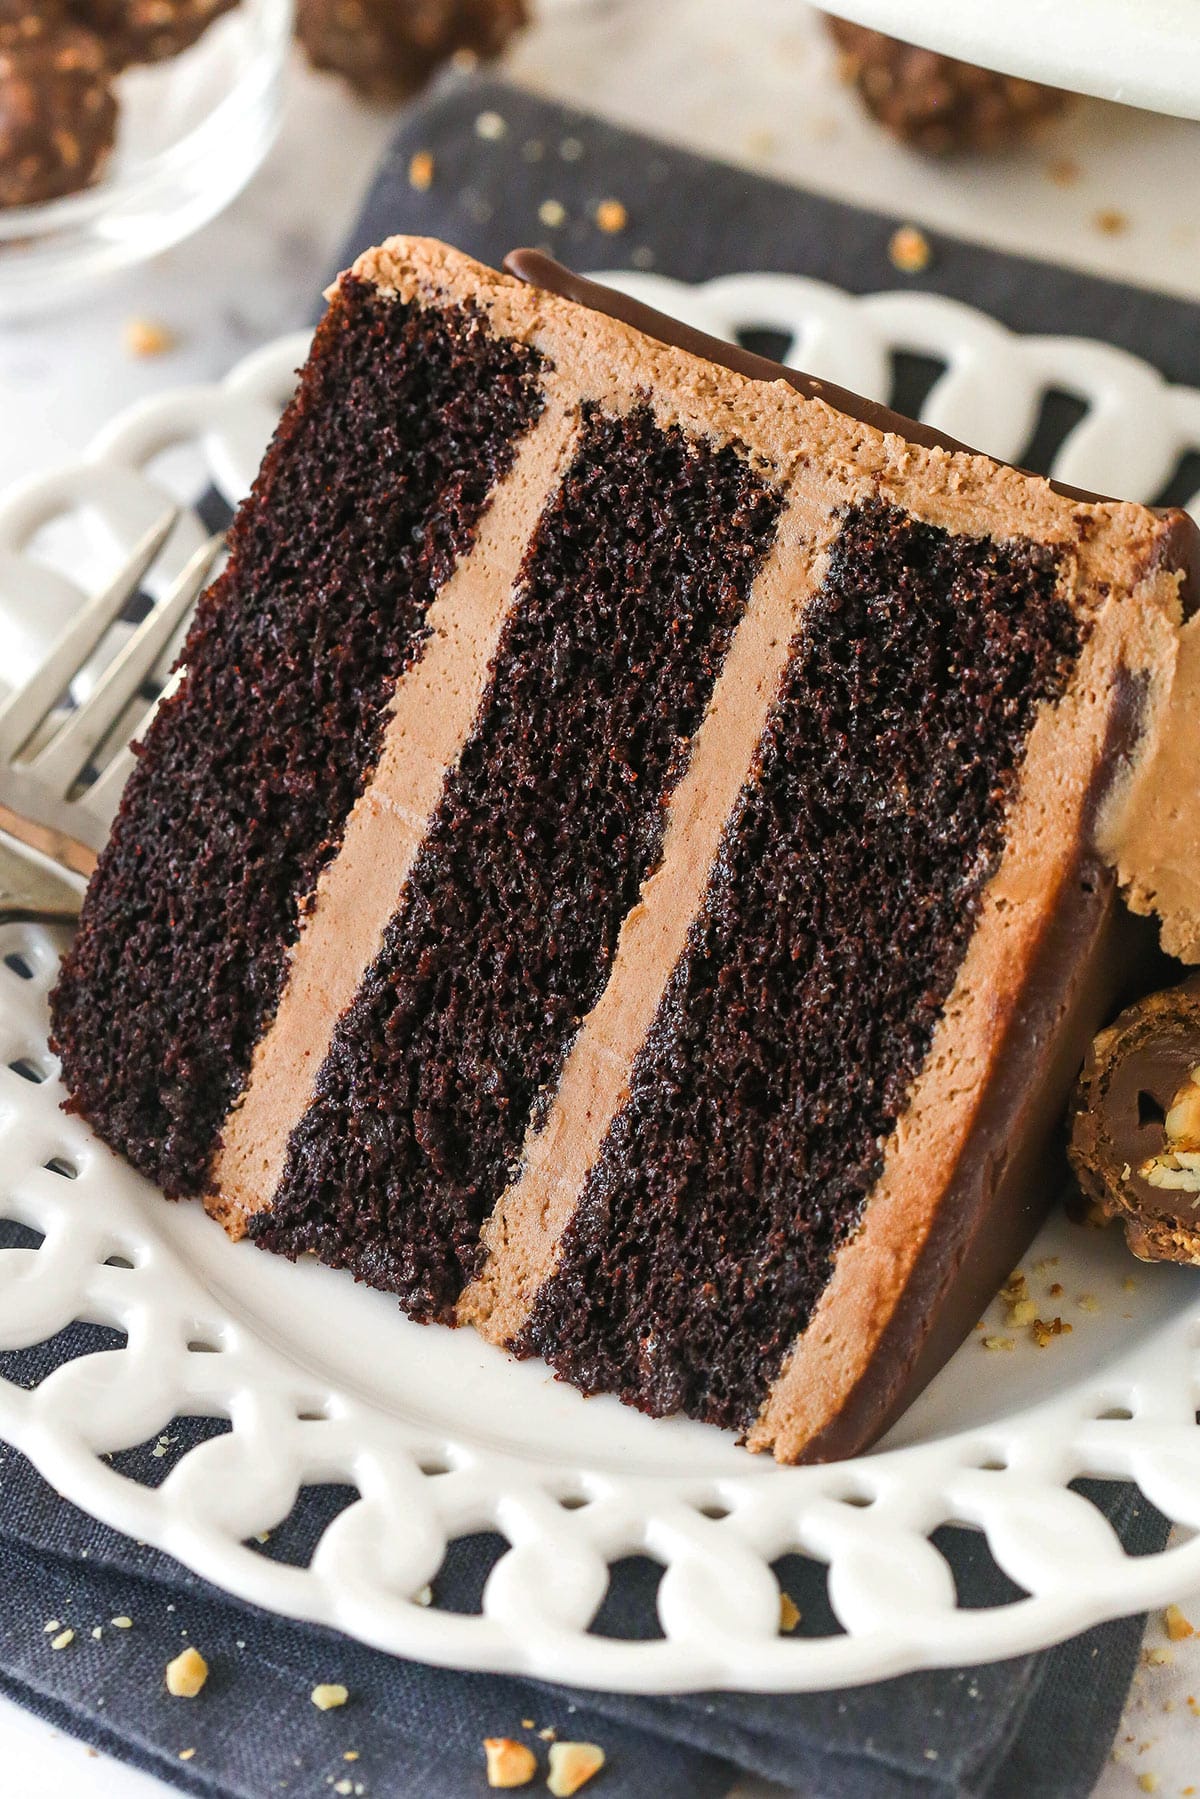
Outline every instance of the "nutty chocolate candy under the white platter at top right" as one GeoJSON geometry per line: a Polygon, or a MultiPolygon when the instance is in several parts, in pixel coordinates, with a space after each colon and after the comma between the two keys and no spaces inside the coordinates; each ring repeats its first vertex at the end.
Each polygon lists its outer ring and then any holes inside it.
{"type": "Polygon", "coordinates": [[[842,74],[867,112],[892,137],[934,157],[1006,149],[1067,104],[1065,94],[1036,81],[959,63],[842,18],[828,25],[842,74]]]}

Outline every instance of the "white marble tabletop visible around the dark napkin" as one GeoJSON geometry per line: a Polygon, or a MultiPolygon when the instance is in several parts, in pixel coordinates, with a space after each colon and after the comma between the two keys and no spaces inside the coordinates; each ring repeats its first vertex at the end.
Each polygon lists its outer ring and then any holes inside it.
{"type": "MultiPolygon", "coordinates": [[[[829,52],[799,0],[545,0],[509,70],[642,130],[932,228],[1200,297],[1196,124],[1085,103],[1038,148],[997,164],[930,166],[882,137],[831,83],[829,52]],[[1117,216],[1110,228],[1103,214],[1117,216]]],[[[79,453],[131,399],[212,380],[300,324],[389,130],[385,113],[297,68],[282,139],[221,219],[86,306],[0,329],[0,482],[79,453]],[[175,347],[130,356],[133,317],[162,322],[175,347]]],[[[1200,1623],[1200,1596],[1182,1603],[1200,1623]]],[[[1119,1759],[1096,1799],[1200,1790],[1200,1718],[1187,1704],[1200,1695],[1200,1639],[1166,1646],[1151,1619],[1148,1651],[1164,1648],[1171,1660],[1155,1653],[1139,1671],[1119,1759]]],[[[5,1799],[166,1790],[0,1702],[5,1799]]]]}

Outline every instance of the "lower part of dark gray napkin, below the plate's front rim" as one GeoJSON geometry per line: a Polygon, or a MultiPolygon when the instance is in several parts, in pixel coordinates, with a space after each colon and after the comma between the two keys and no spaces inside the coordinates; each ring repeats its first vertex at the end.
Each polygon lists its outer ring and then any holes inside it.
{"type": "MultiPolygon", "coordinates": [[[[0,1247],[29,1241],[20,1225],[0,1222],[0,1247]]],[[[40,1349],[0,1355],[0,1376],[34,1387],[72,1355],[117,1340],[72,1326],[40,1349]]],[[[166,1454],[155,1441],[112,1459],[126,1477],[157,1486],[214,1428],[212,1419],[178,1419],[166,1454]]],[[[545,1761],[536,1732],[547,1727],[603,1745],[597,1799],[718,1799],[743,1774],[813,1799],[1087,1799],[1141,1644],[1141,1619],[1124,1619],[1040,1655],[802,1696],[633,1698],[452,1673],[241,1605],[95,1524],[56,1499],[23,1457],[2,1454],[0,1691],[205,1799],[324,1795],[347,1779],[351,1794],[362,1786],[360,1799],[470,1799],[486,1792],[484,1736],[525,1740],[545,1761]],[[131,1626],[117,1628],[113,1617],[131,1626]],[[74,1641],[54,1650],[63,1628],[74,1641]],[[185,1642],[210,1666],[194,1700],[164,1687],[164,1668],[185,1642]],[[345,1686],[349,1704],[318,1711],[309,1693],[320,1682],[345,1686]],[[344,1759],[347,1750],[354,1761],[344,1759]]],[[[1162,1547],[1166,1522],[1133,1488],[1083,1490],[1132,1553],[1162,1547]]],[[[259,1553],[308,1562],[353,1499],[347,1488],[304,1490],[259,1553]]],[[[982,1536],[943,1529],[936,1542],[964,1605],[1018,1598],[982,1536]]],[[[455,1544],[434,1583],[435,1603],[477,1610],[500,1549],[493,1536],[455,1544]]],[[[786,1556],[777,1574],[802,1612],[801,1635],[837,1630],[819,1563],[786,1556]]],[[[653,1633],[655,1585],[653,1563],[622,1562],[594,1628],[653,1633]]]]}

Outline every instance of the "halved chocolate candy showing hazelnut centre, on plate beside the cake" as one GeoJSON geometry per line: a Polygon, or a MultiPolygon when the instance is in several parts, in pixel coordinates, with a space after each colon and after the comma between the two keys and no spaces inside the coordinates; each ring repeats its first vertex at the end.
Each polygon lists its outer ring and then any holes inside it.
{"type": "Polygon", "coordinates": [[[1200,1266],[1200,975],[1137,1000],[1092,1043],[1070,1162],[1142,1261],[1200,1266]]]}

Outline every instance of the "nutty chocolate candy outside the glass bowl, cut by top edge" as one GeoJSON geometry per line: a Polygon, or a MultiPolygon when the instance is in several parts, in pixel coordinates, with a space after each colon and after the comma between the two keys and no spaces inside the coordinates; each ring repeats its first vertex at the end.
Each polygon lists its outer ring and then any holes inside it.
{"type": "Polygon", "coordinates": [[[315,68],[398,101],[455,52],[498,56],[527,20],[525,0],[299,0],[297,32],[315,68]]]}

